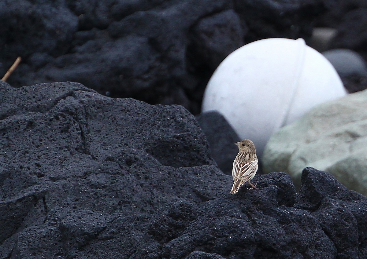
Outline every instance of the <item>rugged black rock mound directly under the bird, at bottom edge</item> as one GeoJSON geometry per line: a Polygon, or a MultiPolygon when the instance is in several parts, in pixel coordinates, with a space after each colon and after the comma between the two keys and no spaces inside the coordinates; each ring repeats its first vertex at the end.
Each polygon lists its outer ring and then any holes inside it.
{"type": "Polygon", "coordinates": [[[172,213],[172,208],[158,211],[150,229],[163,246],[161,256],[185,258],[200,249],[224,258],[334,258],[334,244],[317,220],[309,211],[292,207],[295,189],[287,174],[258,175],[253,181],[259,189],[227,192],[201,204],[196,214],[188,210],[188,218],[172,213]],[[179,232],[161,238],[173,230],[179,232]]]}

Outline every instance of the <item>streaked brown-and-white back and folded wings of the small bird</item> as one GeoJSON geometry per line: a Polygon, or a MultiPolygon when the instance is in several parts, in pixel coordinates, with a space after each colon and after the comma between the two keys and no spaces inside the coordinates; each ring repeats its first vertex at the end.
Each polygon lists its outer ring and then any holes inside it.
{"type": "Polygon", "coordinates": [[[258,167],[258,160],[255,159],[248,160],[238,160],[235,159],[233,162],[232,176],[233,180],[236,182],[241,179],[241,184],[251,180],[251,178],[256,174],[258,167]]]}

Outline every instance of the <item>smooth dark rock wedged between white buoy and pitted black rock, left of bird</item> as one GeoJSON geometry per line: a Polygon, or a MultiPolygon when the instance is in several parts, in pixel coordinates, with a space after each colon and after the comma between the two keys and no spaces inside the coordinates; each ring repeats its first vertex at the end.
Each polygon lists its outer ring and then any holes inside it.
{"type": "Polygon", "coordinates": [[[225,174],[232,175],[233,160],[238,153],[234,143],[241,141],[240,137],[217,111],[203,112],[196,119],[208,140],[212,158],[225,174]]]}

